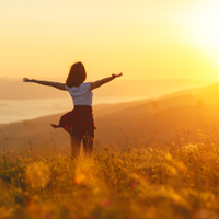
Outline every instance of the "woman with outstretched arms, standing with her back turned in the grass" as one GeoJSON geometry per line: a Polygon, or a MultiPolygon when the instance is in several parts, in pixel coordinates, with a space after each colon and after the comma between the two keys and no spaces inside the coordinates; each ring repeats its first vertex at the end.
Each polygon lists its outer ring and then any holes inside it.
{"type": "Polygon", "coordinates": [[[80,154],[81,140],[83,140],[84,155],[91,154],[93,149],[95,126],[92,114],[92,90],[100,88],[104,83],[107,83],[122,74],[123,73],[112,74],[108,78],[95,82],[84,83],[87,73],[83,64],[79,61],[71,66],[66,83],[39,81],[28,78],[24,78],[23,82],[50,85],[70,93],[74,108],[61,116],[59,125],[51,124],[51,126],[54,128],[62,127],[70,134],[71,155],[72,158],[76,158],[80,154]]]}

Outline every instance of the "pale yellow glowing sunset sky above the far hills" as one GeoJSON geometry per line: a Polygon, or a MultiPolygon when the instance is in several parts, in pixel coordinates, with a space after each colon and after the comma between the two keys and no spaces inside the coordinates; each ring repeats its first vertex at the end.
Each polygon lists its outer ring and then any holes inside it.
{"type": "Polygon", "coordinates": [[[0,0],[0,77],[219,81],[218,0],[0,0]]]}

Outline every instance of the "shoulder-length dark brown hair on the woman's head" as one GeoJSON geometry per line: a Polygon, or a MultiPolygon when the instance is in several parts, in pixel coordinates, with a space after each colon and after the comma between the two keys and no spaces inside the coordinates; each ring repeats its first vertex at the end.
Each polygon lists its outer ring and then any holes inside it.
{"type": "Polygon", "coordinates": [[[79,87],[85,81],[87,73],[82,62],[78,61],[73,64],[69,70],[68,78],[66,79],[66,84],[69,88],[79,87]]]}

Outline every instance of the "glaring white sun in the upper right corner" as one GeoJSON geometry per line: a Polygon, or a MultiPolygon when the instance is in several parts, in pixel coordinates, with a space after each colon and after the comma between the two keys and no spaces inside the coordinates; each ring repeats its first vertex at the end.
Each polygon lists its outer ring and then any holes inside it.
{"type": "Polygon", "coordinates": [[[219,0],[199,1],[186,13],[189,38],[215,59],[219,68],[219,0]]]}

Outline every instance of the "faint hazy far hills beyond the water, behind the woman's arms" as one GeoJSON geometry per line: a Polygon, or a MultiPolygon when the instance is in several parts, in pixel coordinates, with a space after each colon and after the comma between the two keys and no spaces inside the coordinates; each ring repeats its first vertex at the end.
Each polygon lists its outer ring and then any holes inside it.
{"type": "MultiPolygon", "coordinates": [[[[65,81],[64,79],[48,79],[65,81]]],[[[211,81],[194,81],[188,79],[171,80],[115,80],[101,89],[94,90],[95,96],[131,96],[154,97],[176,91],[211,84],[211,81]]],[[[65,91],[43,87],[35,83],[23,83],[22,79],[0,78],[0,100],[10,99],[56,99],[68,97],[65,91]]]]}

